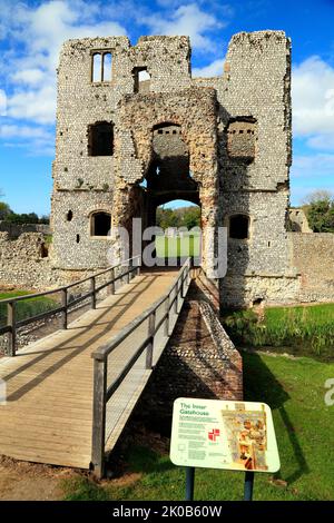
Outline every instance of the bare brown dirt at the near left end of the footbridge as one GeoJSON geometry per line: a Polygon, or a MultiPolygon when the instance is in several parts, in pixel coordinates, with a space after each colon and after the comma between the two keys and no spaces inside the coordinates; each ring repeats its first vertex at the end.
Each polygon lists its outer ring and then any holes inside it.
{"type": "Polygon", "coordinates": [[[0,501],[62,500],[61,480],[77,474],[69,468],[0,456],[0,501]]]}

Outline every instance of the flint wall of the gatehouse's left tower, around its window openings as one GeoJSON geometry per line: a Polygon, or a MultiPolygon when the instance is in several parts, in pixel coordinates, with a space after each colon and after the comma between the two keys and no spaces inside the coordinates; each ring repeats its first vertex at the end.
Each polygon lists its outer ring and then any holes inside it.
{"type": "MultiPolygon", "coordinates": [[[[88,217],[96,210],[99,201],[99,210],[112,210],[115,157],[89,156],[88,126],[96,121],[112,122],[115,145],[122,140],[126,144],[127,157],[134,158],[131,168],[135,171],[140,170],[140,161],[136,160],[136,150],[129,132],[118,129],[118,102],[125,95],[134,92],[134,68],[147,67],[151,76],[149,87],[154,92],[190,87],[188,53],[187,37],[141,37],[134,47],[126,37],[87,38],[65,42],[58,69],[53,164],[55,267],[94,269],[107,265],[110,241],[89,236],[88,217]],[[112,50],[111,81],[92,83],[91,53],[94,50],[104,49],[112,50]],[[72,205],[73,218],[67,224],[69,204],[72,205]],[[80,236],[79,244],[77,235],[80,236]]],[[[120,198],[120,195],[118,197],[120,198]]]]}

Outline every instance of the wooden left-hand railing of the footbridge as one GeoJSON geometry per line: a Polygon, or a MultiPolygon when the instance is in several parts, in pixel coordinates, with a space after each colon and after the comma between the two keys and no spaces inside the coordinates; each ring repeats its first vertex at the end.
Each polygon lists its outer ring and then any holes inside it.
{"type": "Polygon", "coordinates": [[[46,290],[43,293],[36,293],[36,294],[27,294],[24,296],[18,296],[14,298],[7,298],[7,299],[1,299],[0,305],[4,304],[7,305],[7,325],[3,327],[0,327],[0,335],[8,334],[8,349],[7,349],[7,355],[8,356],[16,356],[17,352],[17,329],[20,327],[23,327],[26,325],[29,325],[35,322],[39,322],[41,319],[46,319],[50,316],[53,316],[56,314],[61,314],[60,316],[60,328],[66,329],[68,325],[68,313],[69,309],[75,307],[76,305],[80,304],[81,302],[85,302],[87,298],[90,298],[90,308],[96,308],[96,302],[97,302],[97,294],[105,289],[106,287],[109,287],[110,294],[115,294],[115,284],[117,280],[122,280],[126,278],[126,283],[128,284],[130,280],[130,275],[136,273],[137,275],[140,272],[140,266],[135,265],[134,262],[138,259],[139,256],[135,256],[134,258],[126,259],[121,264],[115,265],[112,267],[108,267],[105,270],[101,270],[100,273],[97,273],[92,276],[88,276],[87,278],[80,279],[78,282],[75,282],[73,284],[63,286],[63,287],[58,287],[52,290],[46,290]],[[129,267],[126,270],[121,270],[124,267],[129,267]],[[120,269],[119,274],[116,274],[120,269]],[[110,273],[110,277],[107,279],[101,285],[97,286],[97,278],[99,276],[104,276],[110,273]],[[69,300],[68,296],[68,290],[71,289],[72,287],[76,287],[78,285],[82,285],[86,282],[90,282],[90,289],[88,293],[82,294],[81,296],[77,297],[76,299],[69,300]],[[59,307],[52,308],[50,310],[46,310],[41,314],[38,314],[36,316],[24,318],[21,320],[17,320],[17,304],[23,302],[23,300],[29,300],[31,298],[39,298],[42,296],[49,296],[51,294],[60,293],[61,294],[61,305],[59,307]]]}

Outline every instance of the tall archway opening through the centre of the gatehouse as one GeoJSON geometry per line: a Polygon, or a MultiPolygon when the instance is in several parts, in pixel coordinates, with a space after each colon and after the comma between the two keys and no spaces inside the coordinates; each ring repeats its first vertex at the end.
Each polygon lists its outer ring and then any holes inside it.
{"type": "MultiPolygon", "coordinates": [[[[163,220],[163,231],[158,233],[156,238],[153,234],[144,237],[143,251],[147,251],[148,245],[155,245],[151,248],[153,256],[156,256],[157,265],[170,265],[171,257],[178,258],[178,265],[184,259],[184,253],[187,251],[186,244],[190,241],[190,253],[199,256],[197,247],[199,234],[196,240],[189,239],[185,228],[196,223],[200,226],[200,199],[199,186],[189,170],[189,149],[186,144],[181,127],[176,122],[163,122],[153,128],[153,155],[147,174],[141,182],[136,185],[136,201],[140,200],[140,216],[143,218],[143,229],[155,226],[161,226],[161,218],[167,215],[174,219],[175,224],[183,227],[181,237],[177,234],[175,239],[170,238],[171,230],[167,230],[166,223],[163,220]],[[176,210],[191,207],[197,220],[190,220],[190,211],[176,210]],[[181,215],[186,215],[181,216],[181,215]],[[171,217],[173,216],[173,217],[171,217]],[[178,219],[176,219],[178,217],[178,219]],[[165,231],[167,236],[165,236],[165,231]],[[164,236],[164,238],[163,238],[164,236]],[[195,244],[194,244],[195,241],[195,244]],[[165,253],[166,256],[165,256],[165,253]],[[173,255],[174,253],[174,255],[173,255]],[[179,258],[180,257],[180,258],[179,258]],[[165,259],[164,259],[165,258],[165,259]],[[168,260],[167,260],[168,258],[168,260]]],[[[171,221],[173,223],[173,221],[171,221]]],[[[191,235],[190,235],[191,236],[191,235]]],[[[193,235],[194,236],[194,235],[193,235]]],[[[143,258],[144,265],[145,259],[143,258]]]]}

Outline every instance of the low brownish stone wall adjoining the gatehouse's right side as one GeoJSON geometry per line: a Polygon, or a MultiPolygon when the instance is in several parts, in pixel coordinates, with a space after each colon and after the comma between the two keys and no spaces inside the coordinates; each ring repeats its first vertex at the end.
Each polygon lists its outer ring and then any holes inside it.
{"type": "Polygon", "coordinates": [[[289,233],[288,240],[301,274],[296,302],[334,302],[334,234],[289,233]]]}

